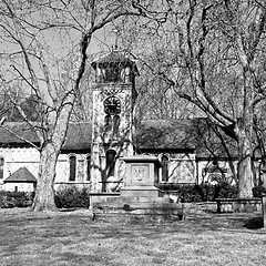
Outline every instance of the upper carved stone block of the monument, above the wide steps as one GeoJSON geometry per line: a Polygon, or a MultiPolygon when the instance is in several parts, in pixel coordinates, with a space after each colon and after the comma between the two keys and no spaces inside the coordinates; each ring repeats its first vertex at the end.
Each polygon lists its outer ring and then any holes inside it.
{"type": "Polygon", "coordinates": [[[122,198],[135,202],[150,202],[158,197],[158,170],[161,163],[155,156],[136,155],[123,158],[125,162],[124,187],[121,188],[122,198]],[[146,201],[145,201],[146,200],[146,201]]]}

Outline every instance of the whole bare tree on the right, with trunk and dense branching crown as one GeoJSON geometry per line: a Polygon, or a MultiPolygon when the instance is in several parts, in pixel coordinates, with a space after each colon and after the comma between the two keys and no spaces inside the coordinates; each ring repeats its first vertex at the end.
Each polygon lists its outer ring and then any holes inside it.
{"type": "Polygon", "coordinates": [[[165,12],[165,20],[139,28],[146,41],[140,59],[156,54],[153,74],[237,142],[239,197],[252,197],[254,113],[265,101],[265,3],[165,0],[150,10],[143,2],[137,9],[165,12]]]}

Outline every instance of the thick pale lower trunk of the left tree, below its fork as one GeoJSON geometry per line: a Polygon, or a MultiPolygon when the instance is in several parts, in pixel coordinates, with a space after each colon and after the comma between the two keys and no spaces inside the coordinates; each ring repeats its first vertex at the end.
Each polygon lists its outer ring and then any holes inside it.
{"type": "Polygon", "coordinates": [[[57,211],[53,182],[58,156],[59,150],[54,149],[52,143],[45,144],[41,150],[33,212],[57,211]]]}

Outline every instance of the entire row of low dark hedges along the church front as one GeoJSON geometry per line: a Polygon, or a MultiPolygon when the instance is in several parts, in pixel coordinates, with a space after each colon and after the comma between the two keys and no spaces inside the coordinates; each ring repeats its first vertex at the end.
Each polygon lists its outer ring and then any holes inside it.
{"type": "MultiPolygon", "coordinates": [[[[183,203],[212,202],[217,198],[236,198],[237,188],[227,183],[218,185],[180,185],[180,184],[157,184],[165,194],[177,193],[183,203]]],[[[256,186],[253,188],[255,197],[260,197],[265,188],[256,186]]],[[[28,207],[32,205],[34,193],[6,192],[0,191],[0,208],[28,207]]],[[[88,188],[78,190],[66,187],[55,193],[55,204],[59,208],[75,208],[90,206],[90,191],[88,188]]]]}

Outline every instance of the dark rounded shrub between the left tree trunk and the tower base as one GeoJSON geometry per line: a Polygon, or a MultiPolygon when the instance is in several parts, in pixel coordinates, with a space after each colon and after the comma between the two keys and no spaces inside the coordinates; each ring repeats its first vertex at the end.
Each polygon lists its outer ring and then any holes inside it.
{"type": "Polygon", "coordinates": [[[55,193],[55,204],[60,208],[88,207],[90,196],[88,188],[66,187],[55,193]]]}

